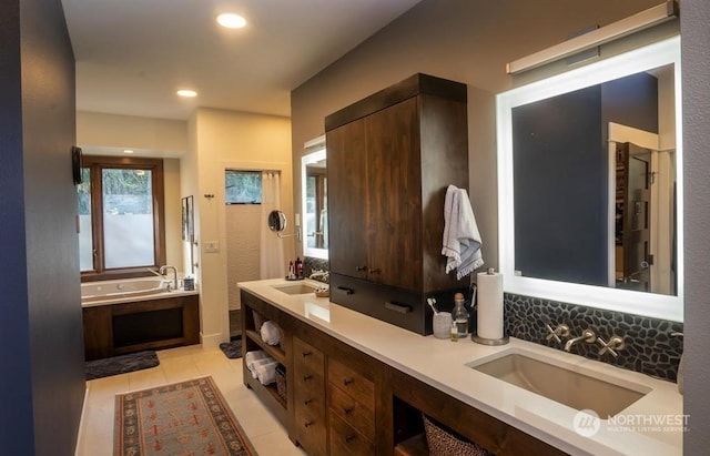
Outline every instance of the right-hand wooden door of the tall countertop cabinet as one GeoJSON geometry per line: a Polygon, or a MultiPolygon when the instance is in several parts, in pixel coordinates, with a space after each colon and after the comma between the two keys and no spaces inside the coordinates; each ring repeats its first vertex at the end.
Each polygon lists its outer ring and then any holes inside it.
{"type": "Polygon", "coordinates": [[[423,171],[417,99],[365,118],[365,125],[368,278],[420,290],[423,171]]]}

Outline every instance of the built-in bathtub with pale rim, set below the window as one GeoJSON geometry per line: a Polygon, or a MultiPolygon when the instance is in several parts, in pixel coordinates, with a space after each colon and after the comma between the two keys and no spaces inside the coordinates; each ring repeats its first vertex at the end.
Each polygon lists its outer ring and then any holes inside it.
{"type": "Polygon", "coordinates": [[[89,282],[81,284],[82,307],[146,301],[170,296],[197,294],[197,291],[168,290],[171,281],[156,277],[126,278],[120,281],[89,282]]]}

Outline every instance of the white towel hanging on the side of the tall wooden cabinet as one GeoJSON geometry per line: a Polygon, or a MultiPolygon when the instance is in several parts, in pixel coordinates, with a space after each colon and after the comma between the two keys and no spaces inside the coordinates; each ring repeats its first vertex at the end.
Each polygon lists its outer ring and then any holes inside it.
{"type": "Polygon", "coordinates": [[[444,202],[444,240],[442,255],[446,259],[446,273],[456,270],[460,280],[484,265],[480,234],[470,207],[468,193],[449,185],[444,202]]]}

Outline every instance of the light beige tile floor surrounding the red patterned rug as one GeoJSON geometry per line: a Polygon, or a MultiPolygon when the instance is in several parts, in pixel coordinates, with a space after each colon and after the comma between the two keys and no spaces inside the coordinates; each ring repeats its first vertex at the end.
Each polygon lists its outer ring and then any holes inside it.
{"type": "Polygon", "coordinates": [[[83,436],[78,456],[113,455],[114,396],[158,385],[211,375],[234,416],[261,456],[305,453],[293,445],[284,427],[242,382],[242,359],[229,359],[220,348],[200,345],[158,352],[160,365],[150,369],[87,382],[83,436]]]}

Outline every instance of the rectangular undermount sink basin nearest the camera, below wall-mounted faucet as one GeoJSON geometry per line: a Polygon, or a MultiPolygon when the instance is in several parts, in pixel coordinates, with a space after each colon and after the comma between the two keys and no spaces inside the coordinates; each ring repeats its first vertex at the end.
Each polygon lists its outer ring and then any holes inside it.
{"type": "Polygon", "coordinates": [[[650,388],[628,381],[609,381],[577,372],[578,367],[540,359],[539,355],[504,352],[493,361],[466,366],[578,411],[591,409],[601,419],[623,411],[650,388]],[[577,371],[575,371],[577,369],[577,371]],[[613,383],[612,383],[613,382],[613,383]]]}

